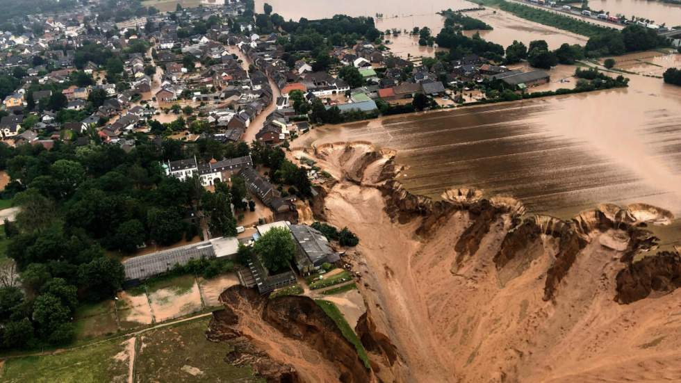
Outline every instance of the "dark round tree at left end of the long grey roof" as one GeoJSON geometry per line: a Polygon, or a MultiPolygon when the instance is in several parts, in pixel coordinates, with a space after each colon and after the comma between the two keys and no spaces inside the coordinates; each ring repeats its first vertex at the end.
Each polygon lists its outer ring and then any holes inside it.
{"type": "Polygon", "coordinates": [[[119,261],[99,256],[79,266],[78,278],[85,289],[85,297],[98,302],[113,297],[121,289],[125,270],[119,261]]]}

